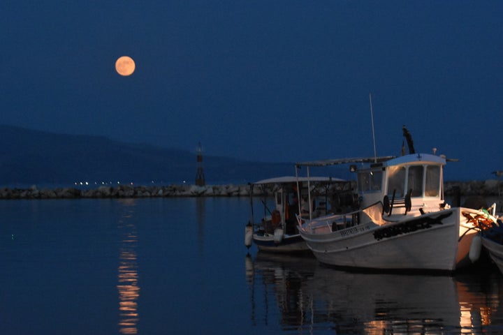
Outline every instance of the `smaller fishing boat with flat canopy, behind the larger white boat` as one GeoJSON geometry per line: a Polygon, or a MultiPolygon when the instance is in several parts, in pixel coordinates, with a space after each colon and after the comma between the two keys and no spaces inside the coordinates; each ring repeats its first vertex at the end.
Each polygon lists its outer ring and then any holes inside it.
{"type": "Polygon", "coordinates": [[[275,253],[309,252],[298,232],[296,215],[310,212],[312,216],[319,216],[342,211],[345,206],[351,207],[353,200],[351,182],[332,177],[311,177],[309,191],[307,178],[264,179],[251,184],[250,195],[251,218],[245,227],[245,246],[255,244],[258,250],[275,253]],[[254,188],[260,188],[263,207],[258,222],[254,213],[254,188]],[[312,196],[309,202],[308,193],[312,196]]]}

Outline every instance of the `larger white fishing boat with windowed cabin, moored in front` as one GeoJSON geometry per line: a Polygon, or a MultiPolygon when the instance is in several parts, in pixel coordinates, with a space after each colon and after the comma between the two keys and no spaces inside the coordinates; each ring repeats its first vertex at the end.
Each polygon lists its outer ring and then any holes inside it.
{"type": "MultiPolygon", "coordinates": [[[[410,148],[410,146],[409,146],[410,148]]],[[[298,167],[350,163],[358,176],[360,209],[344,215],[298,217],[299,232],[328,265],[367,269],[454,271],[472,264],[476,209],[444,200],[446,158],[435,154],[349,158],[298,167]]]]}

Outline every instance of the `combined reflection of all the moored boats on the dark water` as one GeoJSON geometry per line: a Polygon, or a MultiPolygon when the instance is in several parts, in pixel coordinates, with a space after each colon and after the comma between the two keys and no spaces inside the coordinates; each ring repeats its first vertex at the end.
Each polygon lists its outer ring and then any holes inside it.
{"type": "Polygon", "coordinates": [[[302,334],[488,334],[503,318],[503,279],[494,273],[376,274],[282,255],[248,260],[257,324],[302,334]]]}

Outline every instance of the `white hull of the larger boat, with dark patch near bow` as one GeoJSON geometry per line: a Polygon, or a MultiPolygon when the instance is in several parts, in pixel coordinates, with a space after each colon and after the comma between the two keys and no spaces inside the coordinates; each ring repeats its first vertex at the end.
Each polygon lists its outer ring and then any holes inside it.
{"type": "Polygon", "coordinates": [[[446,209],[385,225],[369,222],[333,232],[328,225],[323,228],[326,232],[316,229],[312,221],[302,226],[300,234],[316,258],[328,265],[453,271],[467,262],[476,233],[468,232],[458,243],[471,227],[464,224],[461,211],[472,209],[446,209]]]}

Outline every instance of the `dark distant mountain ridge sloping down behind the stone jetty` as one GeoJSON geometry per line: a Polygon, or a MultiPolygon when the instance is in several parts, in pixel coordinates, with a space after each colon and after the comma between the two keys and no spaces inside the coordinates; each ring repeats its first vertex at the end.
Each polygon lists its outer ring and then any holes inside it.
{"type": "MultiPolygon", "coordinates": [[[[0,185],[120,181],[194,184],[196,152],[0,125],[0,185]]],[[[204,153],[203,153],[204,154],[204,153]]],[[[207,184],[246,184],[293,174],[293,163],[203,156],[207,184]]]]}

